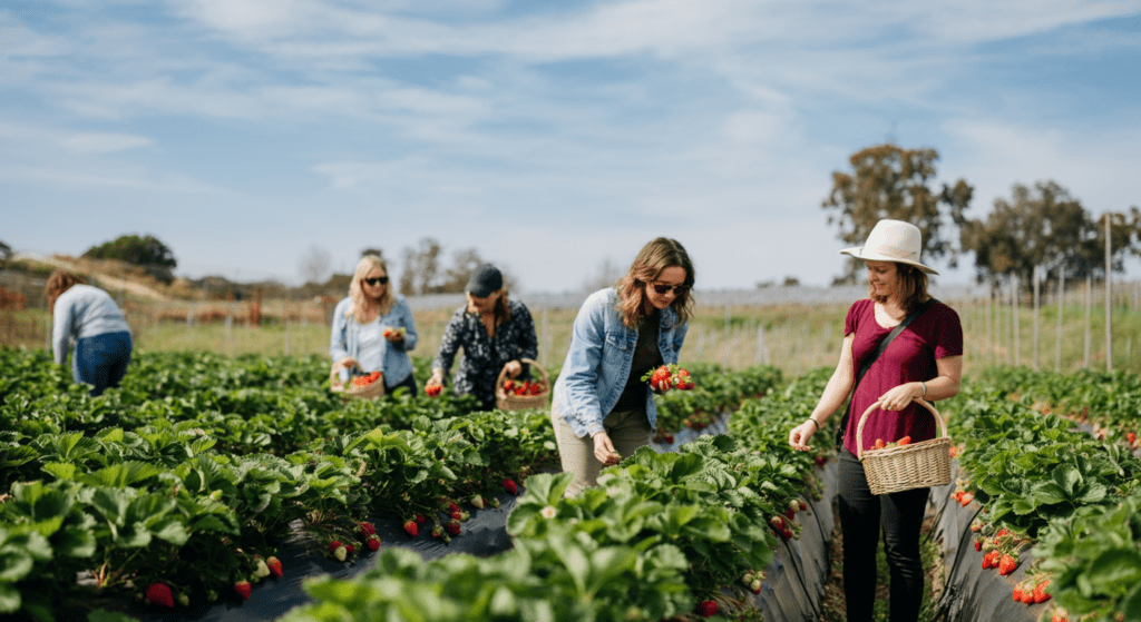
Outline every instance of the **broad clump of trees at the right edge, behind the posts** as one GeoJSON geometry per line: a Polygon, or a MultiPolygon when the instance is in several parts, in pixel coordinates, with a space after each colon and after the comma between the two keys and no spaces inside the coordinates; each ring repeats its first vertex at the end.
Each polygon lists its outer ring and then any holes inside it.
{"type": "MultiPolygon", "coordinates": [[[[1092,275],[1104,278],[1104,216],[1094,218],[1082,202],[1054,181],[1034,188],[1015,183],[1011,198],[995,199],[986,220],[963,227],[964,249],[974,252],[978,280],[998,283],[1019,277],[1031,288],[1034,267],[1047,272],[1063,270],[1067,278],[1092,275]]],[[[1110,213],[1110,263],[1125,270],[1125,256],[1141,254],[1141,210],[1110,213]]]]}

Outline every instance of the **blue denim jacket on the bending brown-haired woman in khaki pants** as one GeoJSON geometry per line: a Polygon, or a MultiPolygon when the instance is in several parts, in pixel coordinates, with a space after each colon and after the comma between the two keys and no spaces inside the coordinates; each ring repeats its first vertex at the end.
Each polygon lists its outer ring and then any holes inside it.
{"type": "MultiPolygon", "coordinates": [[[[633,362],[638,330],[622,324],[613,287],[591,294],[575,317],[563,371],[555,383],[553,406],[570,429],[582,437],[602,432],[602,419],[618,403],[633,362]]],[[[657,344],[665,365],[678,362],[688,325],[677,325],[672,308],[662,310],[657,344]]],[[[657,407],[646,383],[646,416],[657,428],[657,407]]]]}

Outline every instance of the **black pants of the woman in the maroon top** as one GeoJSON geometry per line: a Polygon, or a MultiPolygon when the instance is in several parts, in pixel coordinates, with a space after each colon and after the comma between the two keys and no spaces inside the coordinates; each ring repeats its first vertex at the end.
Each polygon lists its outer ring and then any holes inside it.
{"type": "Polygon", "coordinates": [[[920,532],[930,489],[872,494],[864,466],[840,449],[840,527],[844,538],[844,598],[848,622],[872,620],[875,605],[875,550],[882,524],[891,571],[891,622],[914,622],[923,603],[920,532]]]}

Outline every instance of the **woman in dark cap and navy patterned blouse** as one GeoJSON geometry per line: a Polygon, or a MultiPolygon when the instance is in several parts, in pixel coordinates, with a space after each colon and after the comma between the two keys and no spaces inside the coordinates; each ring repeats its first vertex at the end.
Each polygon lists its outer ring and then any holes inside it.
{"type": "Polygon", "coordinates": [[[521,359],[539,358],[539,338],[531,311],[508,300],[503,275],[493,265],[480,265],[468,281],[468,304],[455,310],[444,329],[439,352],[431,362],[424,386],[440,385],[463,347],[463,359],[452,378],[459,395],[475,395],[485,409],[495,408],[495,380],[507,367],[508,376],[526,376],[521,359]]]}

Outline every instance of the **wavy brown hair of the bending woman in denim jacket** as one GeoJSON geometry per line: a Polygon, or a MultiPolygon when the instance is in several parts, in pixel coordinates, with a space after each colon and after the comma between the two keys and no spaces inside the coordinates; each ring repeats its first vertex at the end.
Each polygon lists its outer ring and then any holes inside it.
{"type": "Polygon", "coordinates": [[[678,314],[678,324],[689,321],[694,316],[694,264],[681,243],[671,238],[652,240],[638,252],[630,271],[618,279],[618,302],[615,305],[622,314],[626,328],[637,328],[646,317],[646,285],[657,279],[666,268],[682,268],[686,271],[686,290],[678,294],[670,308],[678,314]]]}

